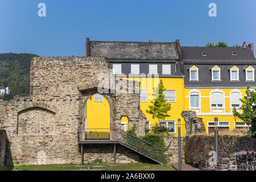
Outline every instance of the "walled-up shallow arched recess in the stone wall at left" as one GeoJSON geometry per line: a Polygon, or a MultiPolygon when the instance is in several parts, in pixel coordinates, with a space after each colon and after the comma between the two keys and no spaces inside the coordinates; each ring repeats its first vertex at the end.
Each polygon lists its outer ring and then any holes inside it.
{"type": "Polygon", "coordinates": [[[17,134],[42,136],[55,134],[56,113],[43,107],[28,107],[18,112],[17,134]]]}

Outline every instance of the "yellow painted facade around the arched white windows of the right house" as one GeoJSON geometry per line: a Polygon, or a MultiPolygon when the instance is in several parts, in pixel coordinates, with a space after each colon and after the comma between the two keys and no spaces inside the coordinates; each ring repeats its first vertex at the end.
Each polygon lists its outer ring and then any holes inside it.
{"type": "MultiPolygon", "coordinates": [[[[206,113],[205,115],[200,114],[200,110],[197,109],[192,109],[197,111],[197,117],[203,118],[203,122],[205,125],[205,129],[207,130],[208,133],[208,122],[214,121],[214,118],[218,118],[218,122],[229,122],[229,129],[230,131],[234,130],[235,128],[235,119],[232,114],[233,109],[230,109],[230,92],[234,90],[235,88],[232,89],[219,89],[222,90],[225,93],[225,111],[224,109],[212,109],[212,112],[210,111],[210,92],[215,90],[214,89],[196,89],[199,90],[201,93],[201,113],[206,113]],[[221,115],[219,113],[214,113],[214,110],[221,110],[221,113],[229,114],[229,115],[221,115]],[[210,115],[214,114],[214,115],[210,115]]],[[[193,89],[185,89],[185,110],[189,110],[189,92],[193,89]]],[[[246,89],[237,89],[240,90],[242,93],[242,98],[245,96],[245,91],[246,89]]],[[[240,110],[238,110],[240,111],[240,110]]],[[[241,121],[241,119],[237,118],[236,121],[241,121]]]]}

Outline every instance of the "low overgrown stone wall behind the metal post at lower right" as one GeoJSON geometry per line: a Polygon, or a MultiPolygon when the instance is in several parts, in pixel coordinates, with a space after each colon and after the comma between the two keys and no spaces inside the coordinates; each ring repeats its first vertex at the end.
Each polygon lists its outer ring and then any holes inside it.
{"type": "MultiPolygon", "coordinates": [[[[220,135],[218,146],[219,159],[225,159],[241,150],[255,151],[256,139],[249,135],[220,135]]],[[[214,151],[214,135],[191,135],[184,146],[185,162],[196,168],[209,167],[210,151],[214,151]]]]}

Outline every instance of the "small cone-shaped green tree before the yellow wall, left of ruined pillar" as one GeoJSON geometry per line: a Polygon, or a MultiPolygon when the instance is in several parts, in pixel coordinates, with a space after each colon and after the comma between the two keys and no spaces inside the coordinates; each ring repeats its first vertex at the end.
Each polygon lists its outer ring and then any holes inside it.
{"type": "Polygon", "coordinates": [[[165,119],[166,117],[170,117],[168,115],[168,111],[171,109],[171,104],[166,103],[165,96],[163,94],[164,88],[162,79],[160,80],[158,88],[154,88],[154,94],[152,96],[155,96],[154,101],[151,101],[151,106],[149,107],[149,110],[146,110],[147,113],[152,114],[152,118],[158,118],[159,119],[165,119]]]}

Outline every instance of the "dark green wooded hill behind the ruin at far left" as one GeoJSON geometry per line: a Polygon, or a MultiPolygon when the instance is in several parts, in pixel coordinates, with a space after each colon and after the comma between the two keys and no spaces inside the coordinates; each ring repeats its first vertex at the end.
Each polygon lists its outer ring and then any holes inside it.
{"type": "Polygon", "coordinates": [[[9,87],[12,96],[30,95],[30,53],[0,53],[0,85],[9,87]]]}

